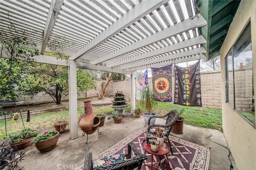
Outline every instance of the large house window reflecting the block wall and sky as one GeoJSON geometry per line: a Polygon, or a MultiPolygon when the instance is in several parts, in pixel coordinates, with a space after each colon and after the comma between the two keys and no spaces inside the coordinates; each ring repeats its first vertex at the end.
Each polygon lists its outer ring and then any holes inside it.
{"type": "Polygon", "coordinates": [[[255,127],[251,24],[225,57],[226,102],[255,127]]]}

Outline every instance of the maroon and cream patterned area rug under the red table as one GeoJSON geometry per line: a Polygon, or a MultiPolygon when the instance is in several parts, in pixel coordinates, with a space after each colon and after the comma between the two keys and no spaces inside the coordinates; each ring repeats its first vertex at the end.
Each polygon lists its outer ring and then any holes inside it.
{"type": "MultiPolygon", "coordinates": [[[[98,156],[95,156],[93,159],[97,160],[110,156],[113,154],[127,153],[127,144],[133,142],[135,146],[144,153],[142,147],[142,142],[144,141],[144,132],[147,130],[147,127],[142,127],[138,131],[132,133],[110,149],[102,152],[98,156]]],[[[174,170],[208,170],[210,164],[210,148],[185,141],[183,139],[169,136],[173,154],[168,153],[168,160],[170,167],[174,170]]],[[[151,164],[151,154],[147,154],[148,159],[145,163],[151,164]]],[[[153,156],[153,166],[157,165],[157,162],[160,160],[159,169],[166,170],[169,169],[168,163],[165,156],[153,156]]],[[[142,164],[142,170],[151,169],[148,166],[142,164]]],[[[77,170],[83,170],[83,165],[80,166],[77,170]]]]}

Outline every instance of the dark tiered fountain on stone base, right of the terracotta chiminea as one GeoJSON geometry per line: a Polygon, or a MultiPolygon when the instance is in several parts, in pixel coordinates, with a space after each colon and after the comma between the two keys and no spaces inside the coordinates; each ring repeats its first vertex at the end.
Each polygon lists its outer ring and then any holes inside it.
{"type": "Polygon", "coordinates": [[[126,100],[124,99],[124,93],[122,91],[115,91],[114,94],[110,95],[110,97],[113,97],[114,100],[111,100],[113,104],[111,107],[119,114],[124,115],[124,109],[129,106],[129,104],[125,103],[126,100]]]}

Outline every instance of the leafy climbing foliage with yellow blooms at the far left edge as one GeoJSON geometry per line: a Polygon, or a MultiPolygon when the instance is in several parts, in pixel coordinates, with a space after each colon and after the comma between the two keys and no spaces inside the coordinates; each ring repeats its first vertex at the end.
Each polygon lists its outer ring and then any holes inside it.
{"type": "MultiPolygon", "coordinates": [[[[4,24],[4,23],[3,23],[4,24]]],[[[33,56],[39,54],[36,49],[36,43],[33,43],[26,31],[17,28],[11,21],[10,24],[5,25],[6,29],[0,30],[0,47],[2,55],[7,56],[8,59],[0,59],[0,101],[16,100],[19,94],[19,82],[22,75],[25,74],[26,62],[19,61],[24,59],[26,61],[33,61],[33,56]],[[34,47],[34,48],[28,48],[34,47]]]]}

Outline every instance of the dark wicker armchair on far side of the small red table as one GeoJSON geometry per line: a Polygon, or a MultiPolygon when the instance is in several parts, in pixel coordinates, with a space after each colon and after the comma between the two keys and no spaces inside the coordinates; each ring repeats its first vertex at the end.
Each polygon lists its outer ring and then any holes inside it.
{"type": "MultiPolygon", "coordinates": [[[[166,133],[165,133],[164,136],[168,139],[168,143],[169,143],[171,152],[172,152],[172,147],[170,145],[170,140],[169,140],[168,136],[170,135],[172,125],[178,119],[178,116],[179,116],[179,112],[177,110],[173,110],[173,111],[170,111],[169,113],[167,113],[166,115],[163,115],[163,116],[157,116],[156,115],[156,116],[152,116],[148,119],[148,125],[149,125],[148,126],[148,132],[152,133],[152,129],[154,129],[155,127],[163,127],[165,129],[166,133]],[[157,118],[167,117],[165,125],[158,125],[158,124],[151,124],[150,125],[150,119],[152,119],[153,117],[157,117],[157,118]]],[[[172,155],[173,155],[173,152],[172,152],[172,155]]]]}

